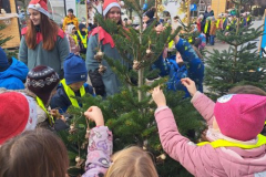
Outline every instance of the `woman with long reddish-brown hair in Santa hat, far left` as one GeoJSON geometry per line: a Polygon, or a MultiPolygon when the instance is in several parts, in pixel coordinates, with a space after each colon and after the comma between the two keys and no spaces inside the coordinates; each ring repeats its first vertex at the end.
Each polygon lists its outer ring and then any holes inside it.
{"type": "Polygon", "coordinates": [[[63,61],[69,55],[69,43],[61,29],[49,19],[47,0],[31,0],[28,7],[30,20],[22,29],[19,60],[29,70],[48,65],[63,74],[63,61]]]}

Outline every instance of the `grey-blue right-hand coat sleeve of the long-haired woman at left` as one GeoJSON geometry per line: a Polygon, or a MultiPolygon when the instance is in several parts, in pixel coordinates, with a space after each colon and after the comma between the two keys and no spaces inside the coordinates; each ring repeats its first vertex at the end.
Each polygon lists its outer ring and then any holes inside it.
{"type": "Polygon", "coordinates": [[[63,39],[58,37],[57,48],[58,48],[58,52],[59,52],[59,59],[60,59],[60,62],[61,62],[61,70],[63,70],[63,62],[70,53],[69,52],[70,46],[69,46],[69,42],[68,42],[68,39],[66,39],[65,35],[64,35],[63,39]]]}

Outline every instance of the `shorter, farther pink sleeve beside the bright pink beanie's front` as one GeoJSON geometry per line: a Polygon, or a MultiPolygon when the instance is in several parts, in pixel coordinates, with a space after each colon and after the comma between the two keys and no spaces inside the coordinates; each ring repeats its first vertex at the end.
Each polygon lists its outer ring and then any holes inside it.
{"type": "Polygon", "coordinates": [[[207,125],[213,125],[215,103],[198,91],[192,97],[191,102],[197,112],[207,122],[207,125]]]}

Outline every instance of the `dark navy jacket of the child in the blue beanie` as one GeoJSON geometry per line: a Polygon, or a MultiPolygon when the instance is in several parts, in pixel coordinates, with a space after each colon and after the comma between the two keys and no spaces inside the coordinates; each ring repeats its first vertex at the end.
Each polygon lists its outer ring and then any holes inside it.
{"type": "MultiPolygon", "coordinates": [[[[90,93],[90,94],[93,95],[92,86],[90,86],[88,83],[84,83],[84,87],[85,87],[85,93],[90,93]]],[[[75,94],[75,96],[81,97],[79,91],[74,92],[74,94],[75,94]]],[[[52,110],[57,108],[57,110],[59,110],[59,113],[63,114],[63,113],[66,112],[66,110],[72,104],[71,104],[71,102],[70,102],[70,100],[69,100],[69,97],[68,97],[68,95],[66,95],[66,93],[65,93],[65,91],[63,88],[63,85],[59,84],[57,93],[55,93],[55,95],[53,95],[53,97],[52,97],[52,100],[50,102],[51,108],[52,110]]],[[[79,103],[79,105],[82,106],[81,103],[79,103]]]]}

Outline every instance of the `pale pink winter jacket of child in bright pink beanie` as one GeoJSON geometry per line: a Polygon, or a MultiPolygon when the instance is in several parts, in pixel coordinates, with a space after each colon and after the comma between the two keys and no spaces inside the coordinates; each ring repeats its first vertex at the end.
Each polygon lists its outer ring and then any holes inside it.
{"type": "MultiPolygon", "coordinates": [[[[197,92],[193,105],[207,121],[213,121],[215,103],[197,92]]],[[[155,112],[160,139],[164,150],[196,177],[266,177],[266,147],[242,149],[238,147],[213,148],[209,144],[197,146],[182,136],[172,111],[158,107],[155,112]]]]}

